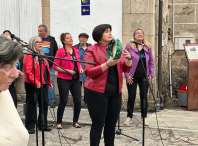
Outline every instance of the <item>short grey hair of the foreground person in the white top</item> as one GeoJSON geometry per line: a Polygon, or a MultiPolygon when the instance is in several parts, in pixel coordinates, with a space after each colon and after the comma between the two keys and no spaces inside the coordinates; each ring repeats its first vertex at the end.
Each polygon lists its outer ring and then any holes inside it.
{"type": "Polygon", "coordinates": [[[0,68],[6,64],[12,64],[23,56],[23,47],[18,43],[0,37],[0,68]]]}

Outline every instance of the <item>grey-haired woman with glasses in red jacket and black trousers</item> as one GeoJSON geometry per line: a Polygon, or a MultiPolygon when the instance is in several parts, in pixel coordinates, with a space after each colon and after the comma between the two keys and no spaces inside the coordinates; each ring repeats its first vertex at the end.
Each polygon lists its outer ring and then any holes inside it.
{"type": "MultiPolygon", "coordinates": [[[[43,55],[42,50],[42,39],[38,36],[30,38],[29,45],[39,54],[43,55]]],[[[29,52],[30,53],[30,52],[29,52]]],[[[38,62],[38,57],[34,59],[35,64],[35,74],[33,66],[33,58],[31,55],[25,55],[23,60],[23,66],[25,71],[25,90],[26,90],[26,115],[25,115],[25,127],[27,128],[29,134],[34,134],[35,124],[36,124],[36,102],[34,99],[34,76],[35,76],[35,85],[36,85],[36,95],[39,103],[39,117],[38,117],[38,127],[41,130],[41,85],[43,87],[43,113],[44,113],[44,130],[51,131],[47,127],[47,111],[48,111],[48,87],[53,88],[51,79],[50,79],[50,70],[47,60],[44,59],[42,62],[42,82],[40,81],[40,65],[38,62]]]]}

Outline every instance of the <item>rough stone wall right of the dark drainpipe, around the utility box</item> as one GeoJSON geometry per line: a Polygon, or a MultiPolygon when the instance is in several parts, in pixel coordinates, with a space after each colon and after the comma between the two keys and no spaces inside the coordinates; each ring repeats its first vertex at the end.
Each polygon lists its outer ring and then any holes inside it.
{"type": "Polygon", "coordinates": [[[172,50],[172,84],[173,94],[176,89],[187,84],[187,59],[184,50],[175,51],[174,36],[193,36],[194,43],[198,43],[198,0],[175,0],[174,31],[173,31],[173,0],[164,1],[163,31],[165,32],[166,45],[163,49],[163,92],[169,94],[169,68],[168,51],[172,50]]]}

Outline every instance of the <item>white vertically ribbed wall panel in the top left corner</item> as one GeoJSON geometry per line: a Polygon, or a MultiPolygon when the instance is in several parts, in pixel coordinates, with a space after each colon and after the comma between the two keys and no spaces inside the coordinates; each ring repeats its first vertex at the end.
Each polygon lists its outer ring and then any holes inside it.
{"type": "Polygon", "coordinates": [[[41,0],[0,0],[0,34],[10,30],[29,43],[41,23],[41,0]]]}

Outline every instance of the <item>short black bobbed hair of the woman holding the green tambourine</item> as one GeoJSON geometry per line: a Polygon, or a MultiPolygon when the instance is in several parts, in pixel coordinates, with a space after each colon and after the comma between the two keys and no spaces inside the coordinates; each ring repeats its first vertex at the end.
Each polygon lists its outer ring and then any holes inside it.
{"type": "Polygon", "coordinates": [[[111,30],[111,25],[110,24],[100,24],[96,26],[92,32],[92,37],[94,41],[97,43],[101,40],[103,33],[105,32],[106,29],[110,28],[111,30]]]}

